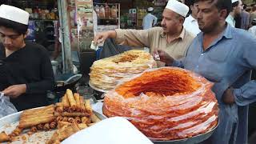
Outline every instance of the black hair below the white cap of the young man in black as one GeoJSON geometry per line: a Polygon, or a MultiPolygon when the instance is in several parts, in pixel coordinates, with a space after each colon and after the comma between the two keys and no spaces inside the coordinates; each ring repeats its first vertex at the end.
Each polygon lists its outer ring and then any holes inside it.
{"type": "Polygon", "coordinates": [[[0,18],[0,26],[13,29],[18,34],[26,34],[28,25],[19,22],[14,22],[6,18],[0,18]]]}

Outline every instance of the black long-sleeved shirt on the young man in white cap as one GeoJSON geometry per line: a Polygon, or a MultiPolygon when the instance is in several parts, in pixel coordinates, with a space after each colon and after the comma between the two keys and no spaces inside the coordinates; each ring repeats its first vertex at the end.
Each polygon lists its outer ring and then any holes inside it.
{"type": "Polygon", "coordinates": [[[17,84],[26,84],[26,94],[10,99],[17,110],[46,106],[46,91],[54,88],[54,73],[43,46],[26,42],[25,47],[6,58],[0,44],[0,91],[17,84]]]}

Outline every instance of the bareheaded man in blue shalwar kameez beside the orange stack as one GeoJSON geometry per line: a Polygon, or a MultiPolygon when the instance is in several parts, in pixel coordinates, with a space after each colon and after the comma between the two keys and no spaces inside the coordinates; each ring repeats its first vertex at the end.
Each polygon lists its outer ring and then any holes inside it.
{"type": "Polygon", "coordinates": [[[248,105],[256,101],[256,39],[245,30],[225,22],[231,0],[198,0],[198,34],[186,58],[174,60],[162,50],[158,54],[166,66],[193,70],[211,82],[219,104],[219,125],[204,143],[247,143],[248,105]]]}

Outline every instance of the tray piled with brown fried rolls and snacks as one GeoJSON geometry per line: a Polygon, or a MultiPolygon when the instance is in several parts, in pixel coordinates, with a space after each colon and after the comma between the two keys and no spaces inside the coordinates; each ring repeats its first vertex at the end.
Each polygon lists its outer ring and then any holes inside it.
{"type": "Polygon", "coordinates": [[[106,117],[67,90],[62,102],[0,118],[0,143],[58,143],[106,117]]]}

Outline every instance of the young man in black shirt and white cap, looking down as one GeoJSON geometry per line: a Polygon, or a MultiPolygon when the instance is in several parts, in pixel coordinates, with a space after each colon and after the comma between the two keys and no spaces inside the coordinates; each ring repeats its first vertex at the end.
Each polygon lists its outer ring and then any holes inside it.
{"type": "Polygon", "coordinates": [[[25,42],[29,14],[14,6],[0,6],[0,92],[17,110],[46,106],[46,91],[54,87],[54,73],[43,46],[25,42]]]}

